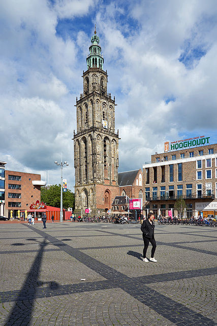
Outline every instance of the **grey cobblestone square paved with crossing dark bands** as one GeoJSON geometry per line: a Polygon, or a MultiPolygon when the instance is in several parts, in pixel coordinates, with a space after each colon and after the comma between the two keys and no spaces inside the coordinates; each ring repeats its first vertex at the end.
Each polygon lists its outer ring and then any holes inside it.
{"type": "Polygon", "coordinates": [[[217,228],[1,224],[0,325],[217,325],[217,228]],[[148,257],[150,256],[148,248],[148,257]]]}

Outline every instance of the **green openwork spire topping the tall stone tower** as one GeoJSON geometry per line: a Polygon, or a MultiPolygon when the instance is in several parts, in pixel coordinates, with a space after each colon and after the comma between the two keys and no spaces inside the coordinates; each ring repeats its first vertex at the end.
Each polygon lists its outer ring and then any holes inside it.
{"type": "Polygon", "coordinates": [[[96,25],[94,36],[91,37],[91,45],[89,46],[89,55],[87,56],[87,69],[101,68],[103,69],[103,56],[101,55],[100,38],[97,36],[96,25]]]}

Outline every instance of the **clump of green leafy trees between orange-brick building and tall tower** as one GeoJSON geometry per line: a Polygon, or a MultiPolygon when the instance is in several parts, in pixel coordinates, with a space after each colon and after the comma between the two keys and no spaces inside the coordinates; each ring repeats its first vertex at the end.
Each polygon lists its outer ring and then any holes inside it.
{"type": "MultiPolygon", "coordinates": [[[[60,208],[60,196],[61,196],[61,185],[51,185],[49,188],[41,188],[41,201],[46,203],[48,206],[60,208]]],[[[63,208],[68,209],[75,208],[75,195],[67,189],[63,192],[63,208]]]]}

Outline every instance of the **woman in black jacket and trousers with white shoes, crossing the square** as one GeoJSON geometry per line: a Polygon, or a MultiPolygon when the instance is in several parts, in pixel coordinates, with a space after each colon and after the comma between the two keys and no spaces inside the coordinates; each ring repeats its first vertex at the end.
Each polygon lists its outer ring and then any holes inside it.
{"type": "Polygon", "coordinates": [[[144,241],[144,249],[143,249],[143,261],[148,262],[148,259],[146,258],[146,252],[148,249],[149,242],[152,244],[151,249],[151,258],[150,261],[157,262],[157,260],[154,258],[154,252],[156,250],[156,240],[154,239],[154,214],[148,213],[148,218],[143,221],[141,226],[142,231],[142,237],[144,241]]]}

